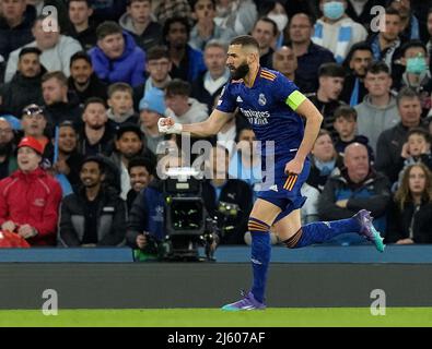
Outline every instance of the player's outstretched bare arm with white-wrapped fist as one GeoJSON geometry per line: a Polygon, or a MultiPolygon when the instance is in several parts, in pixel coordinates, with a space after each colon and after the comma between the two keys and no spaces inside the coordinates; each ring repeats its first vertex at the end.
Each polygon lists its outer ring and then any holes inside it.
{"type": "Polygon", "coordinates": [[[214,109],[210,117],[202,122],[180,124],[175,123],[172,118],[161,118],[157,125],[159,131],[162,133],[188,132],[191,134],[191,136],[208,137],[210,135],[217,134],[231,118],[233,118],[232,113],[214,109]]]}

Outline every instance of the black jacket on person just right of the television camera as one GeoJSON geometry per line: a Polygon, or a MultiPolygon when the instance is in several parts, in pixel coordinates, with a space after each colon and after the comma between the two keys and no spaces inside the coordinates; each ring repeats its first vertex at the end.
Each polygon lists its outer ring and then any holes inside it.
{"type": "Polygon", "coordinates": [[[249,185],[238,179],[229,179],[222,186],[217,201],[217,193],[210,180],[202,183],[202,198],[210,217],[218,217],[220,228],[234,227],[222,232],[221,244],[244,244],[247,220],[253,206],[253,193],[249,185]],[[235,218],[226,217],[219,212],[220,202],[236,204],[240,212],[235,218]]]}

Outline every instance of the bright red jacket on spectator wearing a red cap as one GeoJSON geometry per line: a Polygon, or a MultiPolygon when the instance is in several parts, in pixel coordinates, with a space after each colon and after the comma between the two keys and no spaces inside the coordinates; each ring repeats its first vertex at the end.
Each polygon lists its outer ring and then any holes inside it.
{"type": "Polygon", "coordinates": [[[0,181],[0,226],[12,220],[31,225],[38,234],[27,240],[32,245],[55,245],[61,186],[57,180],[37,168],[21,170],[0,181]]]}

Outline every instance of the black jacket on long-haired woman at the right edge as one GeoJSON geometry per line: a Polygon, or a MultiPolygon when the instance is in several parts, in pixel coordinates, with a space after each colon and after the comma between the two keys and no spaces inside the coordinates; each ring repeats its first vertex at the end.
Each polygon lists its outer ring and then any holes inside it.
{"type": "Polygon", "coordinates": [[[432,243],[432,203],[422,203],[416,207],[407,203],[405,208],[393,203],[387,220],[385,242],[393,243],[400,239],[408,239],[412,227],[412,240],[416,243],[432,243]]]}

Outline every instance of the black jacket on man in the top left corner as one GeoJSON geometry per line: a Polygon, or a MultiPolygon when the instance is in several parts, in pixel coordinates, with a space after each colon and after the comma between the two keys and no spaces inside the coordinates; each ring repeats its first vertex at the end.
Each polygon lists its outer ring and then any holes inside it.
{"type": "Polygon", "coordinates": [[[8,61],[9,53],[34,40],[32,26],[35,19],[36,10],[32,5],[27,5],[24,21],[14,28],[11,28],[8,22],[0,16],[0,55],[3,56],[4,61],[8,61]]]}

